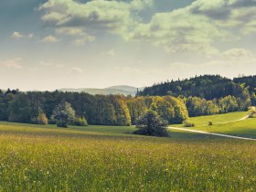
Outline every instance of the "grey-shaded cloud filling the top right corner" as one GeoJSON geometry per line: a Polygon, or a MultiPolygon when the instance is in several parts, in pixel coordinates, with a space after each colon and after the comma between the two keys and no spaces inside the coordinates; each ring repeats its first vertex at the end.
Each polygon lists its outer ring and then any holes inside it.
{"type": "Polygon", "coordinates": [[[207,16],[212,24],[240,32],[240,35],[256,31],[255,0],[197,0],[190,5],[190,12],[195,15],[207,16]]]}

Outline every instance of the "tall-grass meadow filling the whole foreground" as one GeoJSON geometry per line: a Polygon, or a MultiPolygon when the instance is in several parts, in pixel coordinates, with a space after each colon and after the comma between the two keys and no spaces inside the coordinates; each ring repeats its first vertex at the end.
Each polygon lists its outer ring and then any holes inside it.
{"type": "Polygon", "coordinates": [[[0,191],[256,190],[254,142],[127,133],[133,129],[2,123],[0,191]]]}

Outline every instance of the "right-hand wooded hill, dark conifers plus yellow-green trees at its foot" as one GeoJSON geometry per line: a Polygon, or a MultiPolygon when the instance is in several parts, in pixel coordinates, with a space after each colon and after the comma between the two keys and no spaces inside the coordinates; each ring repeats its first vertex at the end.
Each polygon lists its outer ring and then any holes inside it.
{"type": "Polygon", "coordinates": [[[189,116],[246,111],[256,105],[256,76],[229,80],[205,75],[189,80],[172,80],[138,92],[138,96],[171,95],[182,99],[189,116]]]}

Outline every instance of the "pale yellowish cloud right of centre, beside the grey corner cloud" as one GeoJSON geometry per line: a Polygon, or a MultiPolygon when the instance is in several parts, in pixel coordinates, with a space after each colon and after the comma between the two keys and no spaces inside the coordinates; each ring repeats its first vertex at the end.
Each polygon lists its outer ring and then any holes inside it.
{"type": "Polygon", "coordinates": [[[212,25],[208,17],[192,15],[189,7],[186,7],[155,14],[149,23],[138,25],[131,38],[144,39],[170,53],[196,51],[216,54],[218,50],[212,47],[212,43],[227,35],[228,33],[212,25]]]}

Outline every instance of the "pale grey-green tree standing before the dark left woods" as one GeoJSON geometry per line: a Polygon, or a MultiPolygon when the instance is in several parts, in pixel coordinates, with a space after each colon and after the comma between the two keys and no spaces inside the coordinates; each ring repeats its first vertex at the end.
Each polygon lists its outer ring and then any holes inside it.
{"type": "Polygon", "coordinates": [[[52,113],[52,119],[57,120],[57,126],[68,127],[68,124],[75,118],[76,112],[71,107],[71,104],[66,101],[61,101],[52,113]]]}

